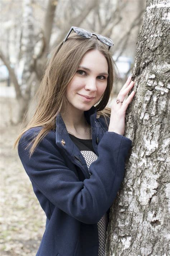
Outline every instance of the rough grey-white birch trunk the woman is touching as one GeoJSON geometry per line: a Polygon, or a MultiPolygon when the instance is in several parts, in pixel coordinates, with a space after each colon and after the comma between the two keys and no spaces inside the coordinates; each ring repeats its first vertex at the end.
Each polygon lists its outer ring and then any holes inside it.
{"type": "Polygon", "coordinates": [[[110,211],[106,255],[169,255],[168,7],[147,0],[132,71],[135,97],[126,115],[132,149],[110,211]]]}

